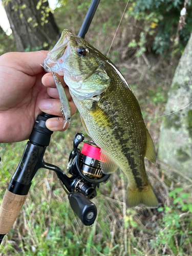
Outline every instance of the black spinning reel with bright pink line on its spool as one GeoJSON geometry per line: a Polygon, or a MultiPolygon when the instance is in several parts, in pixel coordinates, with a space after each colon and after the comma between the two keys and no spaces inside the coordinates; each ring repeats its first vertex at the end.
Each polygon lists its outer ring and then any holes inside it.
{"type": "Polygon", "coordinates": [[[69,157],[67,172],[74,179],[69,184],[70,205],[84,225],[92,225],[97,216],[97,208],[90,201],[97,196],[96,187],[107,182],[110,175],[104,175],[100,167],[100,148],[93,141],[84,141],[84,135],[77,133],[73,140],[73,150],[69,157]],[[84,143],[80,152],[78,146],[84,143]]]}

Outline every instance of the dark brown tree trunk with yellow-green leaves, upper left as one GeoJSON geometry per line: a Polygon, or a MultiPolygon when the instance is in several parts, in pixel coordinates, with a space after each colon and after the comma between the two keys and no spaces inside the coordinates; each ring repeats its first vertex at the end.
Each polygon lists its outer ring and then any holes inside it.
{"type": "Polygon", "coordinates": [[[12,0],[5,4],[17,50],[48,49],[59,38],[49,4],[42,0],[12,0]]]}

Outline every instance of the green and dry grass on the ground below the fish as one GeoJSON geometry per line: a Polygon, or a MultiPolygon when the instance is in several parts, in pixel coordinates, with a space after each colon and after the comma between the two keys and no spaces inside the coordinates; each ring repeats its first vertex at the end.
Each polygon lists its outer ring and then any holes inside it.
{"type": "MultiPolygon", "coordinates": [[[[79,123],[78,113],[73,121],[79,123]]],[[[76,132],[77,127],[70,127],[64,133],[54,133],[45,160],[65,169],[76,132]]],[[[26,141],[1,145],[1,200],[25,144],[26,141]]],[[[148,161],[146,169],[158,195],[159,209],[127,209],[127,180],[118,171],[97,190],[93,202],[98,215],[92,227],[83,226],[75,216],[56,175],[40,169],[22,211],[2,242],[0,255],[191,255],[190,185],[178,185],[178,176],[170,182],[172,173],[165,177],[148,161]]]]}

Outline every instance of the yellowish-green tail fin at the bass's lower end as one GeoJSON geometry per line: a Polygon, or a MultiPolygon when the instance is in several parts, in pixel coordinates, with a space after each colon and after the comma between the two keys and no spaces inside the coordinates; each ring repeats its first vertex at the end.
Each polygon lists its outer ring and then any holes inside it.
{"type": "Polygon", "coordinates": [[[128,208],[133,208],[139,204],[146,205],[150,208],[157,208],[158,201],[153,191],[152,185],[148,182],[148,185],[143,187],[127,186],[126,205],[128,208]]]}

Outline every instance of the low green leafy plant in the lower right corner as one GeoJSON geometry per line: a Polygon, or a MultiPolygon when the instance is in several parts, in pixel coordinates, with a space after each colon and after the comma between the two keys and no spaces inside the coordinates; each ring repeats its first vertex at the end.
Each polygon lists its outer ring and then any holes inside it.
{"type": "Polygon", "coordinates": [[[190,231],[192,202],[187,202],[190,194],[184,193],[184,189],[178,187],[170,191],[168,196],[174,199],[173,205],[158,208],[158,211],[163,213],[163,217],[158,230],[155,230],[156,239],[151,240],[152,248],[164,247],[166,251],[167,247],[167,250],[174,253],[173,255],[178,253],[186,255],[185,250],[192,242],[190,231]]]}

